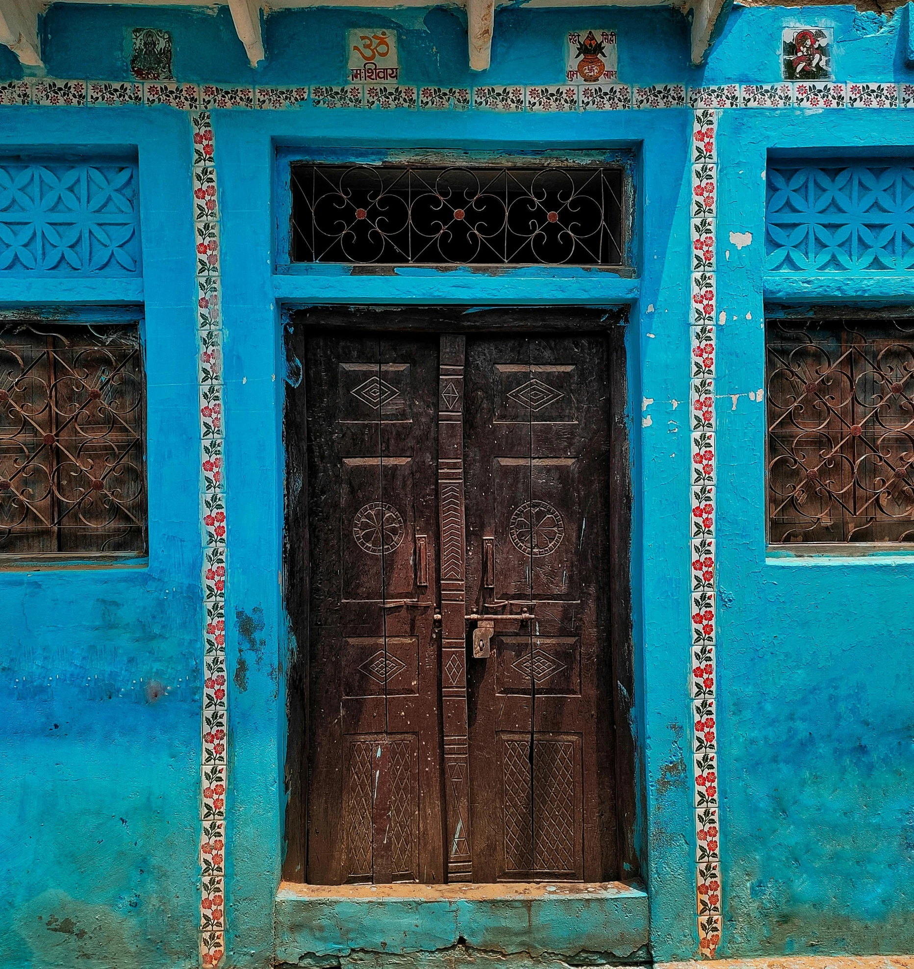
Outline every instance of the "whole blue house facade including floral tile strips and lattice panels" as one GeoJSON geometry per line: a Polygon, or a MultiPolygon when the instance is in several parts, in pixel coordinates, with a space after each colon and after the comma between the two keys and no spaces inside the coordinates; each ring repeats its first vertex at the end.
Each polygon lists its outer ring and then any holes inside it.
{"type": "Polygon", "coordinates": [[[228,9],[57,4],[44,74],[0,47],[0,321],[136,328],[146,481],[137,554],[2,556],[0,965],[914,951],[914,558],[903,529],[772,542],[766,490],[767,332],[911,314],[910,29],[737,7],[694,67],[678,12],[513,5],[475,73],[457,10],[283,10],[252,69],[228,9]],[[347,83],[365,23],[395,33],[395,84],[347,83]],[[612,84],[567,83],[587,24],[614,34],[612,84]],[[169,35],[173,80],[139,79],[138,27],[169,35]],[[421,152],[624,158],[631,271],[290,261],[290,160],[421,152]],[[284,334],[325,305],[621,314],[637,863],[617,882],[283,880],[284,334]]]}

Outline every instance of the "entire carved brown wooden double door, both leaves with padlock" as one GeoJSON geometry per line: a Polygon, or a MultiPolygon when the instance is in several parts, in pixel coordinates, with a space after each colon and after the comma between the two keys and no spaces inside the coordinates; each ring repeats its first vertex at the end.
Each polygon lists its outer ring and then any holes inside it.
{"type": "Polygon", "coordinates": [[[306,881],[615,878],[606,337],[301,349],[306,881]]]}

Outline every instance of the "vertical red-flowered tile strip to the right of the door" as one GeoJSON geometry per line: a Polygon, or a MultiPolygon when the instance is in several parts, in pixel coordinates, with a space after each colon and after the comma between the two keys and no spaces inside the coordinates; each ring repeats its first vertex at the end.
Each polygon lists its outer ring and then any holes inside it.
{"type": "MultiPolygon", "coordinates": [[[[727,94],[724,95],[728,96],[727,94]]],[[[696,918],[699,951],[713,958],[720,943],[720,825],[717,815],[716,572],[714,343],[716,320],[717,117],[698,109],[692,120],[691,286],[689,287],[689,418],[691,487],[689,677],[694,766],[696,918]]]]}

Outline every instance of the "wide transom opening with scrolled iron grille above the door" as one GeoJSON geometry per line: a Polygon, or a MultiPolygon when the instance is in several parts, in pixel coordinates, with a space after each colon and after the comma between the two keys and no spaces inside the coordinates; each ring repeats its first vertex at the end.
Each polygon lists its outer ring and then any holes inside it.
{"type": "Polygon", "coordinates": [[[622,266],[623,172],[292,166],[294,263],[622,266]]]}

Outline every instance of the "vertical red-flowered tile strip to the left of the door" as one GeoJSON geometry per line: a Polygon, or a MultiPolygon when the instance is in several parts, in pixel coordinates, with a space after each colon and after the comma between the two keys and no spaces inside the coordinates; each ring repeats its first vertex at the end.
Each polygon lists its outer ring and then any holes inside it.
{"type": "MultiPolygon", "coordinates": [[[[221,93],[212,92],[214,99],[221,93]]],[[[242,95],[242,101],[244,100],[242,95]]],[[[247,105],[251,107],[251,105],[247,105]]],[[[226,511],[223,475],[219,202],[208,111],[191,114],[201,430],[204,567],[204,703],[201,756],[200,949],[205,966],[225,953],[225,800],[228,790],[225,663],[226,511]]]]}

